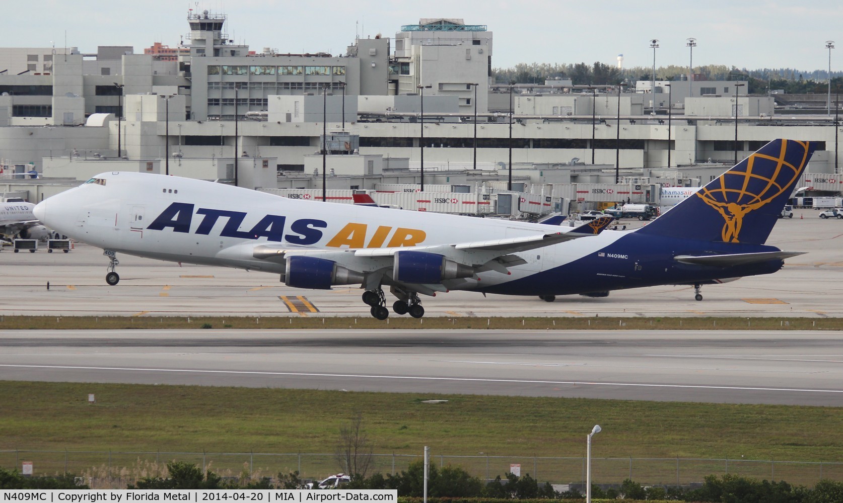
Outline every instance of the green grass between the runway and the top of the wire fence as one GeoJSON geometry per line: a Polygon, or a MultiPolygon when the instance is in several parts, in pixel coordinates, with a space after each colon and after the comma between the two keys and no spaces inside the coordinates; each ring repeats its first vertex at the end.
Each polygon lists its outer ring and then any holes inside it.
{"type": "Polygon", "coordinates": [[[0,449],[335,452],[354,415],[375,452],[843,461],[840,408],[0,382],[0,449]],[[97,403],[88,404],[88,393],[97,403]],[[423,399],[448,399],[421,404],[423,399]]]}

